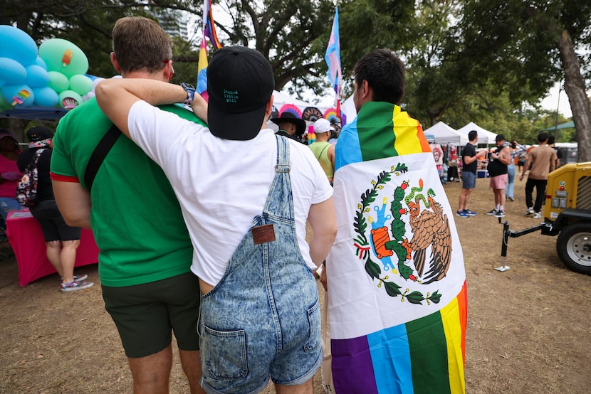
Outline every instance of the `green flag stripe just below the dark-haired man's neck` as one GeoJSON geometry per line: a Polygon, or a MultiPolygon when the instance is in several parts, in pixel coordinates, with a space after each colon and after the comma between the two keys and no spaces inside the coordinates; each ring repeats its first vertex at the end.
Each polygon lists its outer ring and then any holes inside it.
{"type": "Polygon", "coordinates": [[[366,102],[357,115],[357,135],[363,161],[398,156],[394,149],[394,105],[366,102]]]}

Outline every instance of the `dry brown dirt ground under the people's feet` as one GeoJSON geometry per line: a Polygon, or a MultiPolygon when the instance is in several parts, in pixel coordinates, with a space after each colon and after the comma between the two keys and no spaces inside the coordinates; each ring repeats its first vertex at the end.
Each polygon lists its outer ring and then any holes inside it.
{"type": "MultiPolygon", "coordinates": [[[[523,216],[525,181],[506,205],[514,230],[534,225],[523,216]]],[[[444,186],[454,210],[460,183],[444,186]]],[[[466,391],[588,393],[591,387],[591,277],[567,270],[556,238],[532,233],[511,238],[506,272],[501,265],[502,225],[488,179],[478,179],[470,207],[457,218],[468,282],[466,391]]],[[[104,310],[97,267],[95,286],[58,291],[51,275],[19,287],[14,257],[0,261],[0,393],[130,393],[132,380],[117,331],[104,310]]],[[[322,296],[321,296],[322,297],[322,296]]],[[[175,353],[171,393],[188,393],[175,353]]],[[[319,373],[315,393],[323,393],[319,373]]],[[[270,386],[265,393],[275,393],[270,386]]]]}

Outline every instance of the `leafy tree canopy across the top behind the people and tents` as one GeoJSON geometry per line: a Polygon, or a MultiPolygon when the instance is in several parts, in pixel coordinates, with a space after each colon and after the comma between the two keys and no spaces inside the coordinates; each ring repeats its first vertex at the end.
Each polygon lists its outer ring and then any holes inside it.
{"type": "MultiPolygon", "coordinates": [[[[474,121],[509,137],[533,139],[539,129],[563,120],[538,105],[562,80],[580,157],[591,160],[585,93],[591,78],[591,3],[342,0],[338,6],[345,96],[352,92],[355,62],[372,49],[389,48],[407,64],[403,107],[425,128],[439,120],[452,127],[474,121]]],[[[0,23],[15,24],[37,43],[53,37],[72,41],[88,56],[89,73],[108,77],[114,73],[108,54],[117,18],[187,11],[201,21],[201,7],[201,1],[190,0],[33,0],[19,7],[0,0],[0,23]]],[[[324,53],[335,13],[332,0],[214,0],[214,7],[222,43],[263,53],[277,90],[299,98],[305,91],[327,90],[324,53]]],[[[173,82],[195,80],[197,50],[175,39],[173,82]]]]}

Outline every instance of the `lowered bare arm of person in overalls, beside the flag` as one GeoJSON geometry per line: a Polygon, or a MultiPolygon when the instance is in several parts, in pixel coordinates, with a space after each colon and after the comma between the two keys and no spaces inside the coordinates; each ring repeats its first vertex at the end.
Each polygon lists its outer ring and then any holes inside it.
{"type": "Polygon", "coordinates": [[[337,218],[333,197],[310,206],[308,221],[314,232],[314,236],[310,240],[310,257],[315,265],[320,265],[328,255],[337,235],[337,218]]]}

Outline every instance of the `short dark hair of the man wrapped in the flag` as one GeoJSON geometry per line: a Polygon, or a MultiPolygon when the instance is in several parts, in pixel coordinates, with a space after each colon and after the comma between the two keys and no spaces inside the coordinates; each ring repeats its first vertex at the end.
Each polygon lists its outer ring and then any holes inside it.
{"type": "Polygon", "coordinates": [[[363,55],[353,69],[357,86],[364,80],[372,87],[373,100],[400,104],[404,97],[404,63],[389,49],[363,55]]]}

